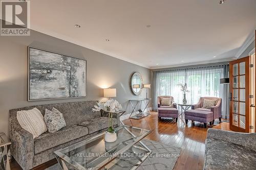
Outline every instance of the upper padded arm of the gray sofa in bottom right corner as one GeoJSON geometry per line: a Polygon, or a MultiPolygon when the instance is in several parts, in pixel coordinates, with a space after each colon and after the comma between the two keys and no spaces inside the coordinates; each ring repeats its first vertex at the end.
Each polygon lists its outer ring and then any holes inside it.
{"type": "Polygon", "coordinates": [[[240,133],[210,128],[207,131],[207,138],[242,145],[245,148],[256,151],[256,133],[240,133]]]}

